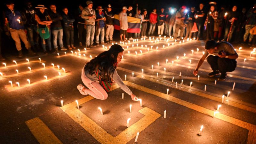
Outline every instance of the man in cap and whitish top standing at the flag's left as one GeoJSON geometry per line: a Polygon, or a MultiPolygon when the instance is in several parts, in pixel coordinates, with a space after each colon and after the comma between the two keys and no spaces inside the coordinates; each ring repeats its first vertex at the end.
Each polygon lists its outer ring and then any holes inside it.
{"type": "Polygon", "coordinates": [[[125,40],[126,30],[128,29],[128,19],[127,19],[127,7],[123,7],[123,11],[119,13],[119,23],[120,23],[120,39],[123,41],[123,36],[125,40]]]}

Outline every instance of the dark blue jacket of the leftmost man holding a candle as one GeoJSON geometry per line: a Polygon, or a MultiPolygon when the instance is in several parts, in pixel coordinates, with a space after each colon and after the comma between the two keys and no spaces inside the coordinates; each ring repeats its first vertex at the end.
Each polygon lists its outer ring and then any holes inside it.
{"type": "Polygon", "coordinates": [[[9,21],[9,27],[10,28],[17,29],[17,30],[24,29],[24,26],[23,25],[21,26],[19,24],[19,21],[18,21],[18,19],[20,20],[20,22],[23,21],[20,11],[18,11],[18,10],[14,10],[14,11],[7,10],[5,12],[5,17],[9,21]]]}

